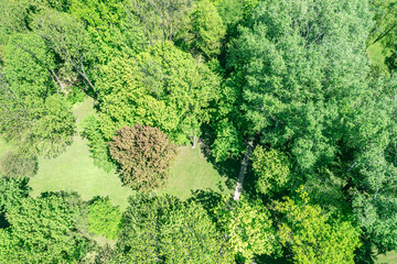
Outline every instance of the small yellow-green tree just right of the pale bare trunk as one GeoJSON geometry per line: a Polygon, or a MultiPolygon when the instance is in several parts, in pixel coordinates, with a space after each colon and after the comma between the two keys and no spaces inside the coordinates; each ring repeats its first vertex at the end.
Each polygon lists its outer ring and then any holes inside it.
{"type": "Polygon", "coordinates": [[[277,191],[290,177],[290,165],[287,156],[277,150],[265,151],[257,145],[253,152],[253,168],[258,179],[256,188],[264,195],[277,191]]]}

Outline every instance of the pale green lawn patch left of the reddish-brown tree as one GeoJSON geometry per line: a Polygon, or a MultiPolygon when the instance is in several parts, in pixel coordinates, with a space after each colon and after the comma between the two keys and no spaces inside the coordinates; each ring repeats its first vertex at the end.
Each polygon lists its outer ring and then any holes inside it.
{"type": "MultiPolygon", "coordinates": [[[[79,122],[94,112],[92,99],[75,106],[77,130],[79,122]]],[[[106,173],[94,165],[87,141],[79,135],[75,135],[74,143],[56,158],[39,160],[39,170],[30,186],[33,197],[42,191],[75,190],[85,200],[109,196],[111,202],[121,209],[127,207],[127,197],[132,194],[131,189],[121,186],[115,172],[106,173]]]]}

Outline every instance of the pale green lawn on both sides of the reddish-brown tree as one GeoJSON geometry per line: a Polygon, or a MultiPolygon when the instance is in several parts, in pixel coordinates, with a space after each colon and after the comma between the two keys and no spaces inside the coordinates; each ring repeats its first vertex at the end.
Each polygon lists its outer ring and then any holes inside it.
{"type": "MultiPolygon", "coordinates": [[[[82,120],[92,113],[95,113],[95,110],[90,98],[75,106],[77,131],[82,120]]],[[[182,146],[171,168],[167,187],[158,193],[186,199],[194,189],[211,188],[225,191],[225,179],[206,162],[200,148],[182,146]]],[[[39,160],[39,172],[32,177],[30,186],[33,197],[50,190],[75,190],[85,200],[94,196],[109,196],[121,210],[127,207],[127,197],[133,194],[130,188],[121,186],[115,172],[106,173],[94,165],[87,141],[79,135],[75,135],[74,143],[56,158],[39,160]]]]}

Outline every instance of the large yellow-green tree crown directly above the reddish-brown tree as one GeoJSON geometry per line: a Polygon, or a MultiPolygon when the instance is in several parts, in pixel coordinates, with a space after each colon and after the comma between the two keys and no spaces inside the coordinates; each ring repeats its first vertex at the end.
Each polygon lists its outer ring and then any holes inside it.
{"type": "Polygon", "coordinates": [[[103,76],[98,122],[106,140],[125,125],[142,123],[186,144],[210,120],[208,107],[219,86],[205,65],[169,42],[149,47],[136,61],[114,61],[103,76]]]}

